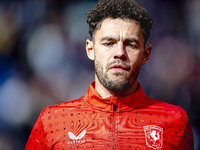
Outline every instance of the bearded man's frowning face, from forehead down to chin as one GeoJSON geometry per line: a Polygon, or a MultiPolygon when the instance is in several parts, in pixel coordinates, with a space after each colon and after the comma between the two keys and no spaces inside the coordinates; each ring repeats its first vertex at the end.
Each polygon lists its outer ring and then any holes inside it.
{"type": "Polygon", "coordinates": [[[105,19],[91,45],[97,83],[117,93],[137,82],[140,67],[146,63],[144,38],[137,21],[105,19]]]}

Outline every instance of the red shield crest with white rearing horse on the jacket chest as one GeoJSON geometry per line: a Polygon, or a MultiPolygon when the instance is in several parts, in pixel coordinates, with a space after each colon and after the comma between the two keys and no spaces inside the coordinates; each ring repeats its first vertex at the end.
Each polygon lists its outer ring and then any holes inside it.
{"type": "Polygon", "coordinates": [[[143,127],[145,132],[146,145],[153,149],[159,149],[163,146],[163,128],[148,125],[143,127]]]}

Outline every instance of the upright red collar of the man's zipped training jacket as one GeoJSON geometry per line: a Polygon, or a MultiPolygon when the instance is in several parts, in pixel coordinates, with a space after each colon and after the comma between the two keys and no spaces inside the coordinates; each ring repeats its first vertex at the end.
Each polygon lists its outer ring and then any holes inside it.
{"type": "Polygon", "coordinates": [[[145,100],[147,99],[147,96],[144,93],[140,84],[139,86],[140,87],[138,91],[125,97],[111,96],[108,98],[102,98],[95,90],[95,81],[93,81],[89,85],[88,91],[85,95],[85,100],[90,106],[106,111],[112,111],[113,104],[117,106],[117,111],[138,109],[144,104],[145,100]]]}

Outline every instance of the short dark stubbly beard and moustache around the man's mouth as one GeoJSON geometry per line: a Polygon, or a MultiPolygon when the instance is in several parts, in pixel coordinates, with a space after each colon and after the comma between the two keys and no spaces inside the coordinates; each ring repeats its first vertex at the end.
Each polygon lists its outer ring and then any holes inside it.
{"type": "Polygon", "coordinates": [[[141,65],[136,66],[134,71],[131,71],[131,67],[121,60],[115,60],[111,63],[108,63],[103,68],[103,65],[100,64],[98,60],[95,59],[95,73],[99,82],[108,90],[112,92],[123,92],[128,90],[135,83],[138,78],[141,65]],[[127,67],[127,70],[124,72],[111,72],[110,66],[112,64],[119,63],[127,67]]]}

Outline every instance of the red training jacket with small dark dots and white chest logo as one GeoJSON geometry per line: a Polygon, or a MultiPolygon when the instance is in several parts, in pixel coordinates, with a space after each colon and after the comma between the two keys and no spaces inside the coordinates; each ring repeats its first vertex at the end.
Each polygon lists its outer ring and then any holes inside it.
{"type": "Polygon", "coordinates": [[[94,89],[84,97],[45,108],[25,150],[193,150],[186,112],[147,97],[142,87],[106,99],[94,89]]]}

